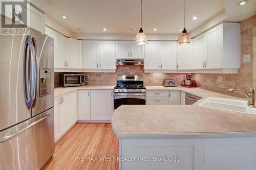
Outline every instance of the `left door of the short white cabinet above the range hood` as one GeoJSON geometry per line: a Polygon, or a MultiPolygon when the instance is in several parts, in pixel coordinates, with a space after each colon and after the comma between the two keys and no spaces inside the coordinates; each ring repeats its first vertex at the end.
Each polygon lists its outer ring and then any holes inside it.
{"type": "Polygon", "coordinates": [[[130,48],[130,41],[116,41],[116,58],[129,58],[130,48]]]}

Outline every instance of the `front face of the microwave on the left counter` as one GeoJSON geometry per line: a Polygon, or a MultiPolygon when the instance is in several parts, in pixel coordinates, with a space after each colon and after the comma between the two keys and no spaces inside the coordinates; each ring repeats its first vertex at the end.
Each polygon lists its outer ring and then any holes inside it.
{"type": "Polygon", "coordinates": [[[64,87],[84,85],[84,75],[73,74],[73,75],[64,75],[64,76],[65,76],[64,87]]]}

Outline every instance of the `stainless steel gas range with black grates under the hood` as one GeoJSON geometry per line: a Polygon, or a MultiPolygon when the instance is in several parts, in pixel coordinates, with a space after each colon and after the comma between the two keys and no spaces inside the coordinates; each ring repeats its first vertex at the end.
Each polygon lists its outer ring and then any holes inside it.
{"type": "Polygon", "coordinates": [[[121,105],[145,105],[146,88],[143,86],[143,77],[136,75],[117,76],[117,85],[114,88],[114,108],[121,105]]]}

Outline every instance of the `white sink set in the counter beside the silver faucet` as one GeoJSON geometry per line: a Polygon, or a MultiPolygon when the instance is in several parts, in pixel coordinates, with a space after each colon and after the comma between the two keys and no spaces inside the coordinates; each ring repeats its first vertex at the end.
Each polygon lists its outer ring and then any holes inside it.
{"type": "Polygon", "coordinates": [[[199,104],[199,106],[256,115],[256,109],[249,108],[246,101],[222,98],[206,98],[202,103],[199,104]]]}

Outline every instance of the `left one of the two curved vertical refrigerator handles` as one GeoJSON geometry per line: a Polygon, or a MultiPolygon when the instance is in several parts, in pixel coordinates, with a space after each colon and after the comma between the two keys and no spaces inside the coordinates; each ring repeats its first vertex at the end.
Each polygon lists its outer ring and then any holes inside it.
{"type": "Polygon", "coordinates": [[[24,94],[25,94],[25,103],[27,108],[30,109],[33,100],[34,94],[34,66],[33,66],[33,53],[32,53],[32,40],[31,37],[28,35],[26,42],[25,42],[25,49],[24,49],[24,59],[23,59],[23,86],[24,86],[24,94]],[[29,56],[28,56],[28,47],[29,47],[29,56]],[[27,60],[29,57],[29,68],[27,65],[27,60]],[[29,87],[27,82],[27,76],[29,77],[29,87]],[[29,91],[29,93],[28,93],[29,91]]]}

